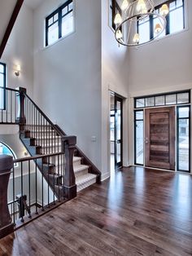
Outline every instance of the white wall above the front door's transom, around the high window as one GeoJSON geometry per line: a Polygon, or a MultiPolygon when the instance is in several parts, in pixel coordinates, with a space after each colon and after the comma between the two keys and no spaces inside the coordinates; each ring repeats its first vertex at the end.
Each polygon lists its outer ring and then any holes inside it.
{"type": "Polygon", "coordinates": [[[186,29],[129,51],[129,92],[132,95],[192,84],[192,1],[186,3],[186,29]]]}

